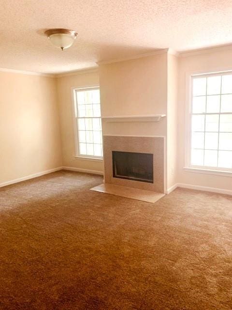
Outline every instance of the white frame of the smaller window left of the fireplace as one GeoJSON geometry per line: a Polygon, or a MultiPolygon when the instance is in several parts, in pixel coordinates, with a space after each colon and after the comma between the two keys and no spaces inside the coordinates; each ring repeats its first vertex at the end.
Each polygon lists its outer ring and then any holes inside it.
{"type": "MultiPolygon", "coordinates": [[[[103,156],[82,155],[80,154],[80,150],[79,150],[78,123],[76,121],[78,119],[76,91],[87,91],[87,90],[94,90],[94,89],[100,90],[99,84],[88,85],[88,86],[83,86],[83,87],[72,87],[71,89],[72,90],[72,106],[73,106],[74,144],[75,144],[74,157],[81,159],[81,160],[88,160],[88,161],[103,161],[103,156]]],[[[100,102],[100,105],[101,105],[101,102],[100,102]]],[[[101,117],[96,117],[96,118],[101,118],[101,122],[102,122],[102,115],[101,117]]],[[[102,137],[102,141],[103,141],[103,137],[102,137]]]]}

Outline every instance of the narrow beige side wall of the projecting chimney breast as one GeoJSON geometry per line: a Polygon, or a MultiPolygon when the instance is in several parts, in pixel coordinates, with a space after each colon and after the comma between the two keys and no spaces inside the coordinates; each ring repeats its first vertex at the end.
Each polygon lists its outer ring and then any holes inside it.
{"type": "Polygon", "coordinates": [[[178,62],[179,59],[168,54],[168,100],[167,100],[167,188],[177,180],[178,165],[178,62]]]}

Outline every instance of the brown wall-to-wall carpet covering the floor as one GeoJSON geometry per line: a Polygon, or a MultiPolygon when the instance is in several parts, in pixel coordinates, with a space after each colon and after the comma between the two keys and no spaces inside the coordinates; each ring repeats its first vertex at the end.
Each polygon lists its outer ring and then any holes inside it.
{"type": "Polygon", "coordinates": [[[232,309],[232,197],[151,204],[58,171],[0,189],[1,310],[232,309]]]}

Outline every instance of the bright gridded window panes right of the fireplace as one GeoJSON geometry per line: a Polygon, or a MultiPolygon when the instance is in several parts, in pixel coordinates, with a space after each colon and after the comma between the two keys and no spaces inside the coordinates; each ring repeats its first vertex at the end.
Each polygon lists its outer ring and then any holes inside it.
{"type": "Polygon", "coordinates": [[[190,167],[232,170],[232,73],[192,76],[190,167]]]}

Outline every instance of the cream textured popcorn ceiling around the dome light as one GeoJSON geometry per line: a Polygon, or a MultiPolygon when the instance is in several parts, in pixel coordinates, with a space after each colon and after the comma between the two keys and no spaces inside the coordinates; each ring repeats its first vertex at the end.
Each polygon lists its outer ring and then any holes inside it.
{"type": "Polygon", "coordinates": [[[231,0],[1,0],[0,67],[62,73],[157,48],[232,43],[231,0]],[[48,28],[78,32],[61,51],[48,28]]]}

